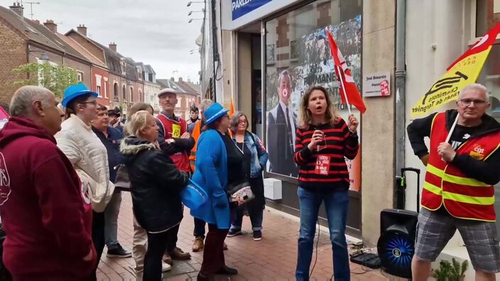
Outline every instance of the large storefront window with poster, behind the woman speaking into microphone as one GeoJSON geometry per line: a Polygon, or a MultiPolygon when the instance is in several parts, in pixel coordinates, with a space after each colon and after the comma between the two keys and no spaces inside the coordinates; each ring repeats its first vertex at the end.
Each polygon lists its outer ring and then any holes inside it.
{"type": "MultiPolygon", "coordinates": [[[[266,99],[263,104],[267,120],[268,172],[289,177],[298,175],[292,156],[295,128],[299,122],[300,98],[309,87],[326,87],[338,113],[347,120],[347,106],[341,104],[325,29],[335,38],[361,90],[361,13],[362,1],[319,0],[266,22],[266,99]]],[[[356,108],[352,107],[352,112],[360,118],[356,108]]],[[[347,162],[352,190],[360,189],[360,154],[347,162]]]]}

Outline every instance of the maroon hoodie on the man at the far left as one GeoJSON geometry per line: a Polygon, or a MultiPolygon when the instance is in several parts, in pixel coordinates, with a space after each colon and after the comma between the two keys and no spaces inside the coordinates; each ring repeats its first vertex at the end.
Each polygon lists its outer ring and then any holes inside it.
{"type": "MultiPolygon", "coordinates": [[[[0,125],[1,127],[1,125],[0,125]]],[[[23,117],[0,130],[3,260],[14,280],[82,280],[96,263],[92,209],[55,138],[23,117]],[[93,251],[94,258],[83,258],[93,251]]]]}

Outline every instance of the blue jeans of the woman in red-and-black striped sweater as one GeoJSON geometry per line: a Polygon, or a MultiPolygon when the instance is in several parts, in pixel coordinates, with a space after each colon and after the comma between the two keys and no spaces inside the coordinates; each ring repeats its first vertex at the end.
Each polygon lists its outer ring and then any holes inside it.
{"type": "Polygon", "coordinates": [[[316,232],[317,214],[322,202],[325,202],[330,241],[333,251],[333,272],[336,281],[350,280],[349,254],[345,238],[347,219],[348,192],[310,192],[298,187],[300,204],[300,234],[298,238],[298,258],[295,277],[297,280],[309,280],[309,268],[312,259],[312,246],[316,232]]]}

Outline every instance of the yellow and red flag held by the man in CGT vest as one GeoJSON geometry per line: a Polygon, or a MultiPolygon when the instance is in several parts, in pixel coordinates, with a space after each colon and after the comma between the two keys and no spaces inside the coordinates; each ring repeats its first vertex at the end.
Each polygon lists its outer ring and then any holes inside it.
{"type": "Polygon", "coordinates": [[[476,82],[491,45],[500,31],[500,23],[447,68],[445,75],[411,109],[411,116],[424,116],[450,101],[455,101],[463,87],[476,82]]]}

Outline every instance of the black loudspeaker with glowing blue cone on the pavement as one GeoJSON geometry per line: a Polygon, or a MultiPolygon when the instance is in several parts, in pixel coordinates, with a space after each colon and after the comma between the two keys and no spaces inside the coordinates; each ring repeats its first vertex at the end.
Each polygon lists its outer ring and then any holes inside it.
{"type": "Polygon", "coordinates": [[[382,269],[388,274],[411,278],[411,259],[415,253],[418,213],[384,209],[380,213],[380,238],[377,243],[382,269]]]}

